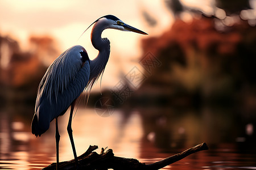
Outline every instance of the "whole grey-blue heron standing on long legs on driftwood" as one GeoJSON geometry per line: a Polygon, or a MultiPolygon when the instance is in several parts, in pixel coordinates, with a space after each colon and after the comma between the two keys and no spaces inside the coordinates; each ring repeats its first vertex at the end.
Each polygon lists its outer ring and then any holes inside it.
{"type": "Polygon", "coordinates": [[[73,111],[77,98],[82,92],[89,92],[92,89],[94,83],[104,73],[108,62],[110,41],[107,38],[101,38],[102,31],[112,28],[147,35],[146,32],[125,24],[114,15],[102,16],[90,24],[90,26],[92,25],[90,39],[94,48],[98,50],[97,57],[90,60],[84,47],[80,45],[72,46],[52,62],[39,83],[31,131],[36,137],[40,137],[49,129],[50,122],[55,119],[56,169],[59,167],[60,134],[58,117],[65,114],[69,107],[71,109],[67,131],[71,141],[75,165],[76,167],[78,166],[71,127],[73,111]]]}

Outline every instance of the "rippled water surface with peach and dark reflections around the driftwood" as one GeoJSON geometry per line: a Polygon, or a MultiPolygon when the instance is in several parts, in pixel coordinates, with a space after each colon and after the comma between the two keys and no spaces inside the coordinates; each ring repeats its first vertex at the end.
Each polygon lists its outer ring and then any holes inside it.
{"type": "MultiPolygon", "coordinates": [[[[32,114],[32,109],[25,113],[1,111],[0,169],[41,169],[55,162],[54,123],[36,138],[30,132],[32,115],[27,113],[32,114]]],[[[73,159],[66,130],[68,116],[59,118],[60,161],[73,159]]],[[[230,109],[127,108],[115,110],[110,117],[100,117],[94,108],[79,108],[72,129],[77,155],[89,145],[108,146],[116,156],[152,163],[207,142],[209,151],[198,152],[164,169],[256,169],[251,126],[230,109]],[[237,142],[239,137],[243,141],[237,142]]]]}

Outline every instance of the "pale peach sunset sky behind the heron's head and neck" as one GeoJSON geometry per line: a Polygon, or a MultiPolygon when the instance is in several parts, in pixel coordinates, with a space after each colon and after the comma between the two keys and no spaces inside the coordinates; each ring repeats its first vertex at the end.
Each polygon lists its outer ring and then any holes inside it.
{"type": "MultiPolygon", "coordinates": [[[[181,2],[211,12],[213,0],[181,2]]],[[[61,52],[73,45],[82,45],[90,59],[93,59],[98,52],[90,42],[91,29],[88,29],[80,39],[79,37],[94,20],[107,14],[113,14],[123,22],[149,34],[144,36],[113,29],[102,33],[102,37],[108,37],[111,42],[110,59],[102,78],[102,86],[113,87],[120,76],[128,73],[134,66],[138,66],[138,58],[143,56],[140,40],[160,35],[164,30],[170,29],[174,19],[164,6],[164,1],[2,0],[0,1],[0,34],[18,40],[23,50],[29,50],[27,40],[31,35],[51,36],[56,39],[59,44],[57,48],[61,52]],[[155,27],[148,26],[143,18],[143,11],[154,16],[158,23],[155,27]]]]}

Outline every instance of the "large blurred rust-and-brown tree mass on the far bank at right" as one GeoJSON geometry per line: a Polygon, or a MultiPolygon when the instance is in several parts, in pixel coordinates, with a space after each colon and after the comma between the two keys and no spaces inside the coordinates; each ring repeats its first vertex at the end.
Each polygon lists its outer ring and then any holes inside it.
{"type": "Polygon", "coordinates": [[[191,102],[197,96],[218,104],[232,102],[255,82],[254,45],[255,29],[246,22],[218,32],[214,18],[176,20],[162,36],[143,40],[144,52],[150,51],[162,65],[139,90],[148,94],[157,89],[172,105],[180,101],[178,96],[191,102]]]}

